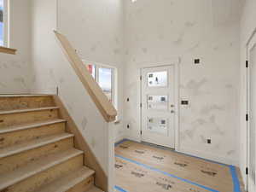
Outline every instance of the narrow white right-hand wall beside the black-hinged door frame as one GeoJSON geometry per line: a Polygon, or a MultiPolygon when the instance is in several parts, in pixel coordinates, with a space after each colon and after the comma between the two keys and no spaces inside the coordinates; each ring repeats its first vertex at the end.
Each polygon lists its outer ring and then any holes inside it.
{"type": "Polygon", "coordinates": [[[248,38],[252,35],[253,30],[256,28],[256,2],[254,0],[247,0],[243,13],[241,16],[241,147],[240,147],[240,168],[244,183],[246,183],[245,169],[247,167],[247,123],[245,121],[246,110],[246,68],[245,61],[247,60],[246,44],[248,38]]]}

